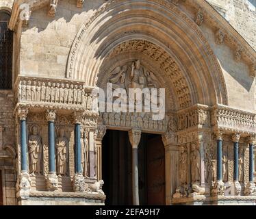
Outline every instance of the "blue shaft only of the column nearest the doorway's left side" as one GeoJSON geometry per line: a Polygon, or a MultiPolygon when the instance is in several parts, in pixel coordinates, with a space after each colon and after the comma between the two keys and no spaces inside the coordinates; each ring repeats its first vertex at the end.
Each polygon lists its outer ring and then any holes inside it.
{"type": "Polygon", "coordinates": [[[81,169],[81,125],[75,123],[75,172],[82,172],[81,169]]]}

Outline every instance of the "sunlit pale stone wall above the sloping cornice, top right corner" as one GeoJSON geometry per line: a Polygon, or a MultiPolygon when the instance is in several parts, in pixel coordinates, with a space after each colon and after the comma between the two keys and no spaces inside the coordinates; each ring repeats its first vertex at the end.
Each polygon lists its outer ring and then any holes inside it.
{"type": "Polygon", "coordinates": [[[256,50],[256,1],[207,0],[256,50]]]}

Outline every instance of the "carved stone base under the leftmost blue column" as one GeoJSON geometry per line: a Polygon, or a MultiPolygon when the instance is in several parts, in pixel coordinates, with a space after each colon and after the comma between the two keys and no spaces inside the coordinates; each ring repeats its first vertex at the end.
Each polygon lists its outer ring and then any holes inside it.
{"type": "Polygon", "coordinates": [[[31,188],[31,179],[27,171],[21,171],[21,174],[18,175],[16,190],[18,191],[16,196],[21,198],[27,198],[29,196],[31,188]]]}

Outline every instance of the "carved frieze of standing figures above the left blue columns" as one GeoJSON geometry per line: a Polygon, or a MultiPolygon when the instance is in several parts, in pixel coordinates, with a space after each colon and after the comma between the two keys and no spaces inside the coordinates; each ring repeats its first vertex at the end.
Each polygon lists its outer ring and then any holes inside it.
{"type": "Polygon", "coordinates": [[[18,77],[14,89],[16,103],[38,107],[54,105],[67,110],[91,111],[94,98],[97,98],[92,95],[92,88],[86,88],[79,81],[18,77]]]}

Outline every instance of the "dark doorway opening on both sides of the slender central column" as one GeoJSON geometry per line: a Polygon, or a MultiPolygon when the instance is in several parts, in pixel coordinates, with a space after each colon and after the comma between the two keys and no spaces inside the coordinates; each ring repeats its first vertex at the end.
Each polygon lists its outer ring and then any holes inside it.
{"type": "MultiPolygon", "coordinates": [[[[128,132],[107,130],[102,155],[105,205],[132,205],[128,132]]],[[[165,205],[165,153],[161,136],[142,133],[138,146],[138,175],[140,205],[165,205]]]]}

